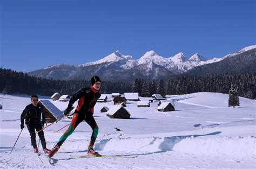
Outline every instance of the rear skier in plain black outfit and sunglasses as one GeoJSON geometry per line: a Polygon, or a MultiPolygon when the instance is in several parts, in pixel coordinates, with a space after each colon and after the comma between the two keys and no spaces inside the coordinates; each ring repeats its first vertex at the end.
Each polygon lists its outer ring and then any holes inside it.
{"type": "MultiPolygon", "coordinates": [[[[38,147],[36,144],[36,131],[42,129],[44,126],[44,109],[41,104],[38,104],[38,96],[31,95],[31,104],[27,105],[21,114],[21,129],[24,129],[24,118],[26,127],[29,130],[30,138],[31,138],[31,145],[34,148],[34,152],[38,153],[38,147]],[[41,113],[42,113],[42,121],[41,121],[41,113]]],[[[43,130],[38,132],[38,136],[41,140],[41,144],[43,146],[44,152],[49,152],[50,150],[46,148],[46,142],[44,138],[43,130]]]]}

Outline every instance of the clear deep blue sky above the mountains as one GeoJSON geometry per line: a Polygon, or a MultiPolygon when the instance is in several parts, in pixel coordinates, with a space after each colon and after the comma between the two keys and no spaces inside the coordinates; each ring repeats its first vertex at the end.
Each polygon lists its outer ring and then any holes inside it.
{"type": "Polygon", "coordinates": [[[0,0],[0,67],[80,65],[119,50],[211,59],[255,45],[255,0],[0,0]]]}

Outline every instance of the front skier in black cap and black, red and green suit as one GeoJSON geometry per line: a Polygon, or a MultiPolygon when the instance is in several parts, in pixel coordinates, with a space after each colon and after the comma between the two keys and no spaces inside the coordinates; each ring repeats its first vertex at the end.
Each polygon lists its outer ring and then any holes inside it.
{"type": "Polygon", "coordinates": [[[98,154],[98,152],[93,150],[93,145],[97,138],[99,128],[95,121],[95,118],[93,118],[92,115],[93,107],[95,106],[98,98],[101,95],[99,92],[99,89],[102,85],[101,82],[102,81],[99,79],[98,76],[93,76],[91,78],[91,87],[82,88],[78,90],[75,94],[73,94],[69,101],[68,108],[66,108],[66,110],[64,111],[64,115],[69,114],[73,103],[75,103],[79,99],[77,108],[69,125],[69,128],[65,131],[62,137],[60,137],[55,147],[53,147],[53,149],[48,153],[50,157],[53,157],[53,155],[59,150],[59,147],[62,146],[66,138],[68,138],[72,134],[72,132],[76,129],[77,125],[82,121],[85,121],[92,128],[92,135],[87,153],[93,155],[98,154]]]}

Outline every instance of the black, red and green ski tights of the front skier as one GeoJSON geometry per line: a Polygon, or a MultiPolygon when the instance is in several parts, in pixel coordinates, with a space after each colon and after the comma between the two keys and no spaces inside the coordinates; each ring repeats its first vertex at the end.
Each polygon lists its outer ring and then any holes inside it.
{"type": "Polygon", "coordinates": [[[84,114],[75,113],[73,115],[73,118],[72,118],[72,121],[69,125],[69,128],[64,132],[62,137],[60,137],[60,139],[57,143],[58,146],[62,146],[62,144],[65,142],[66,138],[68,138],[73,133],[73,131],[76,129],[77,125],[79,123],[81,123],[82,121],[85,121],[92,128],[92,135],[91,135],[90,145],[91,146],[94,145],[95,140],[96,140],[97,135],[98,135],[98,130],[99,130],[95,119],[93,118],[92,114],[87,114],[86,117],[85,117],[84,114]]]}

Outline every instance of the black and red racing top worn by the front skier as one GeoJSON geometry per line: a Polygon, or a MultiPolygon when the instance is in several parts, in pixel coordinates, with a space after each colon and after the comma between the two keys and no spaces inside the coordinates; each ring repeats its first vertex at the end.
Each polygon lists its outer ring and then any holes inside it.
{"type": "Polygon", "coordinates": [[[93,113],[95,106],[101,93],[93,87],[82,88],[78,90],[69,101],[68,108],[71,109],[72,105],[79,99],[76,112],[86,114],[86,112],[93,113]]]}

